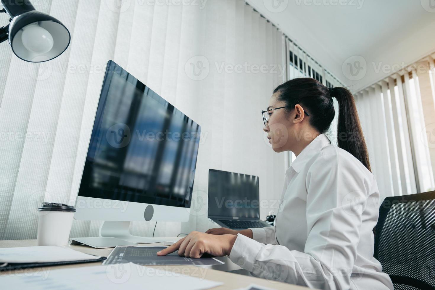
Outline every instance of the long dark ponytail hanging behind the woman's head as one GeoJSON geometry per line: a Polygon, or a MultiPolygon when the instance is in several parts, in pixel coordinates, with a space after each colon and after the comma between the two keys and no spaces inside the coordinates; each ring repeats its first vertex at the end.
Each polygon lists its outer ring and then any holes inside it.
{"type": "Polygon", "coordinates": [[[352,93],[343,87],[335,87],[332,89],[332,97],[338,101],[338,147],[351,153],[371,171],[367,146],[352,93]]]}

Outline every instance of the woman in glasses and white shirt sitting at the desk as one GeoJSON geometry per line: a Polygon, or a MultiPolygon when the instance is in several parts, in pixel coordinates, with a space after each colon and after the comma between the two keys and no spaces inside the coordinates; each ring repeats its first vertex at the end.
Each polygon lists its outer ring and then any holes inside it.
{"type": "Polygon", "coordinates": [[[275,152],[296,159],[274,227],[192,232],[158,255],[228,255],[255,276],[318,289],[393,289],[373,257],[379,191],[352,94],[298,78],[274,90],[263,112],[275,152]],[[338,101],[338,147],[325,136],[338,101]],[[283,134],[287,138],[274,140],[283,134]],[[285,142],[283,142],[284,140],[285,142]]]}

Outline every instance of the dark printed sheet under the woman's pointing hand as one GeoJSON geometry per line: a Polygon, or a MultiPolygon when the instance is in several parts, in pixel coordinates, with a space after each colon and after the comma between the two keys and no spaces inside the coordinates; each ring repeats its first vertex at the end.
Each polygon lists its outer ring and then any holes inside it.
{"type": "Polygon", "coordinates": [[[157,252],[166,247],[116,247],[104,260],[103,265],[133,262],[139,265],[221,265],[224,262],[211,257],[192,259],[178,256],[177,252],[166,256],[157,256],[157,252]]]}

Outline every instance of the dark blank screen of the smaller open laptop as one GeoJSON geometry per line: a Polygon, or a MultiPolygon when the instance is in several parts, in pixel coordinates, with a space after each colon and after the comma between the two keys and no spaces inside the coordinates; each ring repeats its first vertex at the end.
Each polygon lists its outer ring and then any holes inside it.
{"type": "Polygon", "coordinates": [[[210,169],[208,216],[260,218],[258,177],[210,169]]]}

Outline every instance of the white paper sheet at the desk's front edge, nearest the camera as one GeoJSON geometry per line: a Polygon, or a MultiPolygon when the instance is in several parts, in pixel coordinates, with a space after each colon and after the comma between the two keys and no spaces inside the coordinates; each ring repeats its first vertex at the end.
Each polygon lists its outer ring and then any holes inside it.
{"type": "MultiPolygon", "coordinates": [[[[207,270],[207,269],[200,269],[207,270]]],[[[2,289],[210,289],[223,283],[205,280],[204,275],[170,272],[134,263],[37,271],[32,274],[11,273],[1,277],[2,289]]]]}

